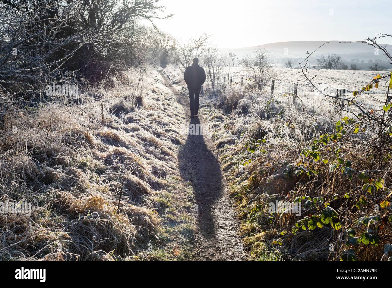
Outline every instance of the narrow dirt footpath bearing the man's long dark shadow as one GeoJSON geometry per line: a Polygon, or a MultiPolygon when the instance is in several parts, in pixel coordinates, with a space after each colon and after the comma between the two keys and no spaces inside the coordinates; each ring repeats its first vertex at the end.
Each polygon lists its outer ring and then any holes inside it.
{"type": "MultiPolygon", "coordinates": [[[[169,83],[162,74],[164,84],[175,94],[187,114],[190,124],[206,123],[203,118],[191,119],[189,98],[169,83]]],[[[186,124],[184,123],[184,126],[186,124]]],[[[197,210],[196,243],[194,257],[200,261],[242,261],[247,259],[238,236],[240,221],[229,196],[229,190],[216,156],[214,143],[205,135],[187,135],[180,150],[180,173],[185,181],[194,186],[197,210]]]]}

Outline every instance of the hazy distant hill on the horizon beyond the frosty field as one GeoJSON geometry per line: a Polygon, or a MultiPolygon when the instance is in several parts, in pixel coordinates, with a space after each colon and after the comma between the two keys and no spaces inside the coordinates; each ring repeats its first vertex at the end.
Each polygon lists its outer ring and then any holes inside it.
{"type": "MultiPolygon", "coordinates": [[[[277,42],[260,45],[261,48],[269,50],[273,54],[274,58],[305,58],[307,51],[309,53],[315,51],[318,47],[318,51],[313,56],[320,56],[322,54],[336,53],[342,56],[343,59],[350,60],[352,58],[358,58],[359,60],[380,60],[385,61],[385,56],[382,51],[379,51],[379,55],[375,54],[374,47],[365,43],[341,43],[346,41],[291,41],[291,42],[277,42]],[[326,43],[328,42],[328,43],[326,43]]],[[[251,54],[258,46],[254,47],[243,47],[237,49],[222,49],[222,51],[228,51],[235,53],[239,58],[244,57],[247,54],[251,54]]],[[[387,44],[387,49],[392,53],[392,45],[387,44]]]]}

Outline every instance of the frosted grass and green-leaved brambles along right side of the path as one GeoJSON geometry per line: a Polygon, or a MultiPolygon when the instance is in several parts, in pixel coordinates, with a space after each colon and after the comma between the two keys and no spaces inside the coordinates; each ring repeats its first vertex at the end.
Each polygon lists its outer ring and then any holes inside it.
{"type": "MultiPolygon", "coordinates": [[[[360,87],[374,76],[366,74],[360,87]]],[[[358,113],[352,107],[342,111],[309,92],[294,102],[289,95],[271,99],[269,87],[241,94],[234,85],[205,89],[200,114],[213,123],[252,259],[386,260],[392,217],[382,201],[390,196],[390,143],[375,145],[379,135],[350,118],[358,113]],[[380,188],[370,194],[364,183],[380,188]],[[299,201],[301,214],[271,213],[276,200],[299,201]],[[332,213],[331,221],[323,213],[332,213]]]]}

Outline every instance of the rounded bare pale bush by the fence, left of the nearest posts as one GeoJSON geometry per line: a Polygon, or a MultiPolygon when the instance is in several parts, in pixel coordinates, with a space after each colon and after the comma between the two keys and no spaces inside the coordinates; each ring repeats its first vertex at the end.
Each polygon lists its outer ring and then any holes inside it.
{"type": "Polygon", "coordinates": [[[243,58],[241,63],[252,74],[254,87],[259,90],[274,77],[274,62],[265,48],[258,47],[251,56],[243,58]]]}

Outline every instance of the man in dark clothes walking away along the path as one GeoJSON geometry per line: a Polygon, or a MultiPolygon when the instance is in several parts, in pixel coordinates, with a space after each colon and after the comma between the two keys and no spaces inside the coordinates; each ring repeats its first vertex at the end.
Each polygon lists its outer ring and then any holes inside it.
{"type": "Polygon", "coordinates": [[[189,107],[191,108],[191,118],[197,116],[199,112],[199,95],[201,85],[205,82],[205,72],[199,66],[199,58],[193,58],[193,64],[184,72],[184,80],[189,90],[189,107]]]}

